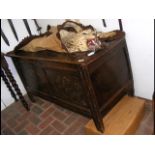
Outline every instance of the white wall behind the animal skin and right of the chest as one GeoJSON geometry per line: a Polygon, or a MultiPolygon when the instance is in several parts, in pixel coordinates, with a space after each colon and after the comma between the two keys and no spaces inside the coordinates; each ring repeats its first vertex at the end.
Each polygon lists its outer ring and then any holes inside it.
{"type": "MultiPolygon", "coordinates": [[[[64,20],[39,20],[39,24],[46,30],[48,24],[61,24],[64,20]]],[[[103,27],[100,19],[81,19],[83,24],[93,25],[99,31],[118,29],[118,21],[106,20],[108,28],[103,27]]],[[[124,19],[123,26],[131,59],[135,82],[135,95],[152,99],[154,91],[154,20],[124,19]]]]}

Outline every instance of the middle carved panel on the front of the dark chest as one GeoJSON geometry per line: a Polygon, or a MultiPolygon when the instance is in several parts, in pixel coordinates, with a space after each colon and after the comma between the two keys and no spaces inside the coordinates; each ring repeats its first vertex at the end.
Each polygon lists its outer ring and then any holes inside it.
{"type": "Polygon", "coordinates": [[[86,95],[78,73],[51,68],[46,68],[45,72],[52,97],[87,106],[86,95]]]}

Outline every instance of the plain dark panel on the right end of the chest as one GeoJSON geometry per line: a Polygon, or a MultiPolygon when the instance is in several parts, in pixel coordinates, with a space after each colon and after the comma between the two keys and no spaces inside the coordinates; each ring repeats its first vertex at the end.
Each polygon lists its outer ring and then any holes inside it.
{"type": "Polygon", "coordinates": [[[90,67],[91,80],[99,107],[108,106],[104,104],[121,89],[125,90],[125,86],[130,81],[123,46],[118,46],[109,52],[90,67]]]}

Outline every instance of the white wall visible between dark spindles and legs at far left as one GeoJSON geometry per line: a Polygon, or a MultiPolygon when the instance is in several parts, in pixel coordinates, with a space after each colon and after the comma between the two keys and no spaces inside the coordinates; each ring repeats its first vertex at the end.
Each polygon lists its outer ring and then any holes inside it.
{"type": "MultiPolygon", "coordinates": [[[[18,34],[19,41],[21,41],[23,38],[28,36],[28,32],[25,29],[25,26],[24,26],[22,20],[14,19],[13,23],[16,28],[16,32],[18,34]]],[[[28,20],[28,23],[32,30],[32,34],[37,34],[34,22],[32,20],[28,20]]],[[[1,52],[7,53],[7,52],[13,50],[14,47],[18,44],[18,42],[16,41],[7,20],[5,20],[5,19],[1,20],[1,28],[3,29],[5,35],[7,36],[8,40],[10,42],[10,46],[7,46],[1,37],[1,52]]],[[[24,86],[16,72],[16,69],[15,69],[11,59],[7,58],[7,62],[9,63],[9,68],[11,69],[11,71],[14,75],[14,78],[16,79],[22,93],[25,94],[26,91],[25,91],[24,86]]],[[[5,86],[4,82],[1,79],[1,110],[4,109],[6,106],[9,106],[13,102],[14,102],[14,99],[11,97],[10,92],[8,91],[7,87],[5,86]]]]}

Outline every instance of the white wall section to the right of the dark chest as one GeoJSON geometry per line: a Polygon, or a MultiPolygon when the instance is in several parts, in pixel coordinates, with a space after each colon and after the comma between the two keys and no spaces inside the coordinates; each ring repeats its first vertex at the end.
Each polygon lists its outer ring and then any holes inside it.
{"type": "Polygon", "coordinates": [[[154,92],[154,21],[124,20],[137,96],[152,99],[154,92]]]}

